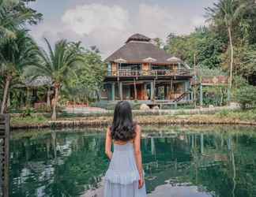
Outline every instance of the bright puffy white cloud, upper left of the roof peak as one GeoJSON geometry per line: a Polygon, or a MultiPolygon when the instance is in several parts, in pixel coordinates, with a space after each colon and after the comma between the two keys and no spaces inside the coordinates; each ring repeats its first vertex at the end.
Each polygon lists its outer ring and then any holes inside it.
{"type": "MultiPolygon", "coordinates": [[[[129,24],[129,14],[120,6],[90,4],[67,10],[62,21],[77,34],[91,34],[97,29],[124,31],[129,24]]],[[[104,32],[102,32],[104,33],[104,32]]]]}

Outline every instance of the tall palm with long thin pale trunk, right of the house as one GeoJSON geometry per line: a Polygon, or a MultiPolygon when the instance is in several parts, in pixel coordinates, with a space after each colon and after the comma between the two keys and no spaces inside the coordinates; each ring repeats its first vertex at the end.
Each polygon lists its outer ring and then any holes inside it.
{"type": "Polygon", "coordinates": [[[232,31],[235,23],[243,13],[243,9],[247,5],[237,0],[220,0],[218,3],[214,3],[213,8],[206,8],[209,20],[213,20],[214,24],[224,25],[227,28],[228,39],[230,45],[230,73],[229,73],[229,91],[232,90],[232,78],[233,78],[233,62],[234,62],[234,47],[233,47],[233,35],[232,31]]]}

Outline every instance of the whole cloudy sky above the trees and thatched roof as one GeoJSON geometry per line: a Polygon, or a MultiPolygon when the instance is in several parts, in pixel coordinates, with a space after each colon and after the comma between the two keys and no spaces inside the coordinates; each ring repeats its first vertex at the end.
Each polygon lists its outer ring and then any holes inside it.
{"type": "Polygon", "coordinates": [[[43,46],[59,39],[97,46],[104,58],[130,35],[141,33],[163,40],[172,32],[186,35],[205,24],[205,7],[214,0],[37,0],[30,3],[43,21],[30,27],[43,46]]]}

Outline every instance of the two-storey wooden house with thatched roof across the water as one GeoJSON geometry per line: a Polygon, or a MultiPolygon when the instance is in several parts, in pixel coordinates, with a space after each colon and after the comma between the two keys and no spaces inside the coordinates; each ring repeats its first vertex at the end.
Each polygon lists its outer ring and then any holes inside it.
{"type": "Polygon", "coordinates": [[[107,101],[190,102],[190,66],[135,34],[106,60],[102,99],[107,101]]]}

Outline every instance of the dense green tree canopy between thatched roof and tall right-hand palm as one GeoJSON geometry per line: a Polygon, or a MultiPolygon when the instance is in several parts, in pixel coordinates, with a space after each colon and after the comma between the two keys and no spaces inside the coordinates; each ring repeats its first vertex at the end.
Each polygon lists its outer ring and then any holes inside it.
{"type": "Polygon", "coordinates": [[[206,68],[216,68],[220,65],[220,55],[223,52],[224,42],[209,28],[197,28],[190,35],[169,35],[164,49],[184,61],[191,67],[196,64],[206,68]]]}

